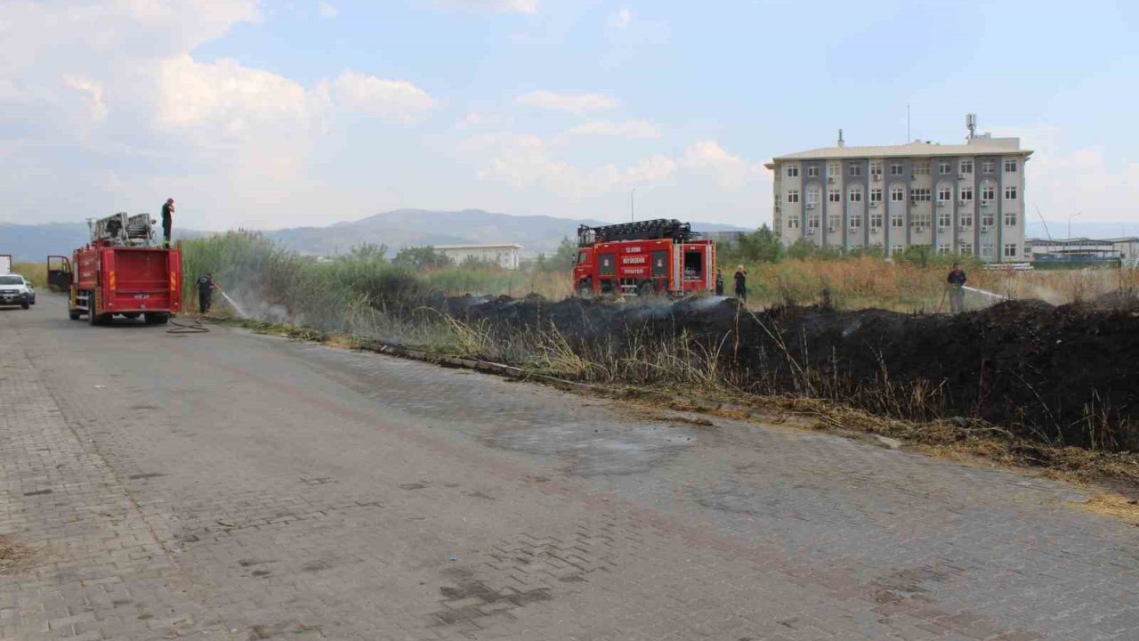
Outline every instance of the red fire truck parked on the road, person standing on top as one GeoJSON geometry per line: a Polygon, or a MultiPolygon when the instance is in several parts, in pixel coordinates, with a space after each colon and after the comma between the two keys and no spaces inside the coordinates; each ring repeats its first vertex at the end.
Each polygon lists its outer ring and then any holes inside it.
{"type": "Polygon", "coordinates": [[[162,324],[182,309],[182,254],[154,244],[150,216],[116,213],[90,220],[91,242],[48,257],[48,279],[69,283],[68,316],[101,325],[115,315],[162,324]]]}

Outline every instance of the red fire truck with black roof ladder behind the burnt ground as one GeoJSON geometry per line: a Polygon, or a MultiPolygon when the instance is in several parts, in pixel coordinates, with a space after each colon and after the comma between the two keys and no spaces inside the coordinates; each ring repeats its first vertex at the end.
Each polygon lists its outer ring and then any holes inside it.
{"type": "Polygon", "coordinates": [[[715,289],[715,243],[687,222],[642,220],[577,228],[579,295],[685,295],[715,289]]]}

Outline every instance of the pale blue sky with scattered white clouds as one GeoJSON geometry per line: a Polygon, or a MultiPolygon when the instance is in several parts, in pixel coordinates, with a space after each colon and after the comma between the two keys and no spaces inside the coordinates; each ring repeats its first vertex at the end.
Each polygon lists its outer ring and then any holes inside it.
{"type": "MultiPolygon", "coordinates": [[[[396,208],[755,227],[773,155],[1035,149],[1026,201],[1139,234],[1126,2],[0,2],[0,221],[187,227],[396,208]]],[[[1035,221],[1033,221],[1035,224],[1035,221]]],[[[1035,230],[1034,230],[1035,232],[1035,230]]],[[[1056,229],[1052,229],[1054,234],[1056,229]]]]}

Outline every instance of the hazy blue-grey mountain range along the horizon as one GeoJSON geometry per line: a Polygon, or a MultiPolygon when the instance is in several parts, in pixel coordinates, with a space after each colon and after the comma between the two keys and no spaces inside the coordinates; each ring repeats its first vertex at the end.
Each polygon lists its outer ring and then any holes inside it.
{"type": "MultiPolygon", "coordinates": [[[[306,255],[335,255],[354,245],[387,245],[393,253],[412,245],[517,243],[523,254],[552,253],[562,238],[573,238],[579,225],[608,225],[600,220],[509,216],[469,209],[427,211],[401,209],[327,227],[292,227],[262,232],[282,246],[306,255]]],[[[696,232],[740,232],[740,227],[693,222],[696,232]]],[[[195,238],[206,232],[174,228],[177,238],[195,238]]],[[[0,222],[0,254],[13,260],[40,261],[48,254],[69,254],[90,238],[85,222],[10,225],[0,222]]]]}

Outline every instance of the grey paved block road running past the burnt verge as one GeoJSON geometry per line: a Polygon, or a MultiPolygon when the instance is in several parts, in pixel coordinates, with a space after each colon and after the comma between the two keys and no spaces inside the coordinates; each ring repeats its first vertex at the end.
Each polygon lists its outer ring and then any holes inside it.
{"type": "Polygon", "coordinates": [[[239,331],[0,310],[2,639],[1139,639],[1059,484],[239,331]]]}

